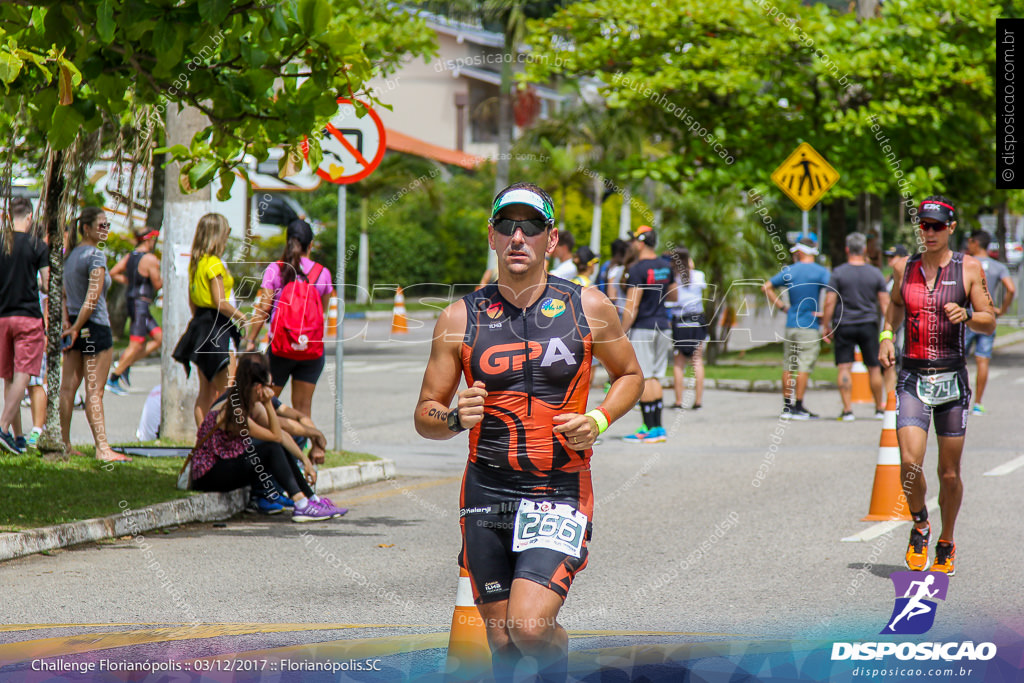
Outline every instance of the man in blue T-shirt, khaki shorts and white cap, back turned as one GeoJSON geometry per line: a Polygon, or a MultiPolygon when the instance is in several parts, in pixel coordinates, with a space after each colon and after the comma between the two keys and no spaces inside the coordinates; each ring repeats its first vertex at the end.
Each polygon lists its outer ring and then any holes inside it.
{"type": "Polygon", "coordinates": [[[764,284],[764,292],[773,306],[786,311],[785,338],[782,344],[782,418],[810,420],[818,416],[804,408],[804,392],[814,361],[821,348],[821,319],[819,298],[821,289],[828,285],[828,269],[814,262],[818,249],[813,240],[802,239],[793,249],[794,264],[764,284]],[[790,292],[790,304],[782,303],[781,292],[790,292]],[[796,387],[793,373],[797,373],[796,387]],[[796,389],[796,400],[793,394],[796,389]]]}

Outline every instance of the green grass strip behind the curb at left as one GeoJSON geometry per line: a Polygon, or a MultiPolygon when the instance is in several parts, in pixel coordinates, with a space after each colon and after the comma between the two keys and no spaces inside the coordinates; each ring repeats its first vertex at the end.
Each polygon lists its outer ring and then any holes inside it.
{"type": "MultiPolygon", "coordinates": [[[[177,445],[146,441],[135,445],[177,445]]],[[[46,462],[35,455],[0,455],[0,531],[17,531],[79,519],[106,517],[132,509],[195,496],[175,483],[180,458],[135,458],[131,463],[100,463],[90,445],[77,445],[84,457],[67,463],[46,462]]],[[[34,451],[30,453],[34,454],[34,451]]],[[[379,460],[365,453],[329,451],[323,467],[379,460]]]]}

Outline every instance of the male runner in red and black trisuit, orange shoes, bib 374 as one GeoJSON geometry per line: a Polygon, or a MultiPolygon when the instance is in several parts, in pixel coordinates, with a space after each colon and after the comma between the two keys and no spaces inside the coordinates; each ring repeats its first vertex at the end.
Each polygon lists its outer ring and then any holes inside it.
{"type": "Polygon", "coordinates": [[[971,329],[991,334],[995,307],[978,260],[949,249],[949,237],[956,229],[953,203],[933,195],[922,202],[918,215],[925,251],[898,261],[893,268],[892,298],[879,335],[879,360],[884,368],[896,361],[893,330],[905,315],[903,365],[896,381],[896,438],[903,490],[914,522],[906,566],[922,571],[928,564],[931,525],[922,465],[928,427],[934,419],[939,439],[942,531],[931,570],[952,575],[956,558],[953,525],[964,498],[959,464],[971,407],[964,332],[971,329]]]}

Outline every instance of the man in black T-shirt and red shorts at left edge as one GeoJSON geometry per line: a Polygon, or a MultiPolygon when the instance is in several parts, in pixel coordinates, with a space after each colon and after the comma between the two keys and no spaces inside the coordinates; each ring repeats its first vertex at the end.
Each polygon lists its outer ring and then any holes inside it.
{"type": "Polygon", "coordinates": [[[32,376],[39,373],[46,350],[40,288],[49,285],[49,250],[30,233],[32,203],[24,197],[10,200],[7,218],[13,232],[0,245],[0,376],[4,380],[0,414],[0,446],[20,454],[27,443],[16,440],[11,427],[20,417],[22,398],[32,376]],[[39,281],[37,282],[37,275],[39,281]]]}

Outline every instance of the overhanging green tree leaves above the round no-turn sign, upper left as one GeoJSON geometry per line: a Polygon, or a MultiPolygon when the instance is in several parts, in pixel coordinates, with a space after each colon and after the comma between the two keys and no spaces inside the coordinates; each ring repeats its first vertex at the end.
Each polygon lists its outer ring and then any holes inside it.
{"type": "MultiPolygon", "coordinates": [[[[151,106],[138,122],[150,129],[169,102],[197,108],[210,125],[169,151],[196,188],[228,177],[243,154],[296,153],[335,113],[335,97],[375,101],[367,80],[432,53],[432,41],[422,20],[383,2],[4,3],[0,110],[25,101],[31,126],[60,150],[134,106],[151,106]]],[[[310,156],[315,166],[315,145],[310,156]]]]}

